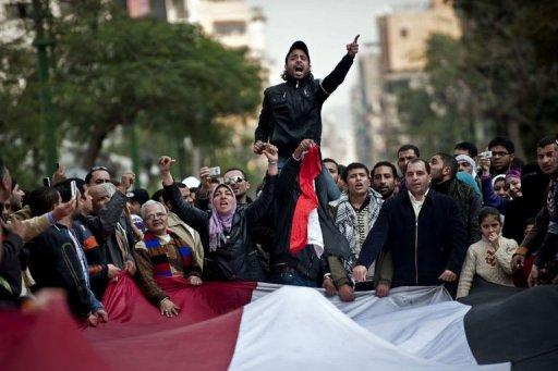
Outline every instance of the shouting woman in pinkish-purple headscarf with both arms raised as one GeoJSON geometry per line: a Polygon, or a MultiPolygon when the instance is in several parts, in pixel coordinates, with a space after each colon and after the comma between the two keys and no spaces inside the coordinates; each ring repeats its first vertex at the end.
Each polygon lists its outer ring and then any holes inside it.
{"type": "Polygon", "coordinates": [[[272,205],[278,174],[277,148],[266,144],[263,154],[268,160],[268,168],[262,195],[248,206],[238,208],[232,188],[227,184],[219,184],[211,191],[208,211],[184,202],[170,174],[174,160],[166,156],[159,160],[165,196],[170,201],[172,211],[202,236],[205,280],[266,280],[265,258],[252,239],[252,230],[255,222],[272,205]]]}

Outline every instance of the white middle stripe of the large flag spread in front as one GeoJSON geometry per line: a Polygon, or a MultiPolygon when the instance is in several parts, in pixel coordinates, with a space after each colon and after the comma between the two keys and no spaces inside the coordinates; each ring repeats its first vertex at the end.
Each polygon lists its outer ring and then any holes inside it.
{"type": "Polygon", "coordinates": [[[258,285],[244,307],[231,370],[509,370],[476,364],[462,325],[469,307],[441,288],[398,288],[388,299],[359,293],[352,304],[305,287],[263,294],[271,289],[258,285]]]}

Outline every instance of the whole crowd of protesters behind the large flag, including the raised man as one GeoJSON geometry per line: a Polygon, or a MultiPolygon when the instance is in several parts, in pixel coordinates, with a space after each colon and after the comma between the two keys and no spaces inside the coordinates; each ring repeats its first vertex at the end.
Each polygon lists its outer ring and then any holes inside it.
{"type": "Polygon", "coordinates": [[[323,287],[344,301],[359,289],[385,297],[440,284],[462,298],[475,277],[558,284],[558,137],[542,138],[526,164],[501,136],[482,152],[460,143],[421,157],[407,144],[395,163],[322,159],[320,108],[352,65],[357,37],[347,50],[316,81],[305,44],[289,49],[286,83],[266,89],[255,133],[252,150],[267,173],[254,199],[242,163],[222,174],[202,168],[189,187],[192,175],[177,182],[174,160],[162,156],[161,188],[149,197],[135,174],[117,181],[102,165],[84,180],[60,166],[50,186],[24,190],[0,160],[1,305],[59,287],[72,312],[96,325],[108,320],[102,296],[121,274],[166,317],[180,312],[165,292],[177,276],[193,286],[323,287]]]}

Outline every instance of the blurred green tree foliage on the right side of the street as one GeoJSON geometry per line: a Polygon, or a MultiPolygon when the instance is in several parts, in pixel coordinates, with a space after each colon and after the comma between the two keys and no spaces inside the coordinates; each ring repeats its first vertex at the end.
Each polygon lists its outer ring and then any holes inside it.
{"type": "Polygon", "coordinates": [[[463,35],[429,39],[428,83],[399,90],[401,120],[425,138],[426,150],[451,150],[460,140],[483,146],[500,134],[532,158],[536,140],[558,127],[558,3],[456,0],[453,7],[463,35]]]}

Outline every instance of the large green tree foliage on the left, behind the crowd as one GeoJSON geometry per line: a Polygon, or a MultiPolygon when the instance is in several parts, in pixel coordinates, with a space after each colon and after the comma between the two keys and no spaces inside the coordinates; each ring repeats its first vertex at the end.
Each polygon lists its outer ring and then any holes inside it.
{"type": "MultiPolygon", "coordinates": [[[[110,2],[86,0],[62,2],[51,33],[56,37],[51,92],[59,140],[78,145],[83,168],[95,162],[119,125],[148,133],[150,139],[140,143],[140,148],[154,156],[174,147],[168,138],[178,143],[186,135],[196,145],[216,147],[230,133],[221,129],[218,119],[250,114],[259,102],[257,63],[248,61],[245,50],[227,49],[197,26],[130,18],[110,2]],[[154,147],[158,143],[165,143],[162,148],[154,147]]],[[[22,40],[14,42],[14,50],[25,51],[17,58],[25,58],[28,67],[17,65],[14,53],[12,70],[2,65],[0,79],[31,82],[34,50],[22,40]]],[[[24,136],[23,126],[37,127],[24,148],[28,154],[31,148],[39,148],[41,135],[35,91],[4,90],[0,99],[12,104],[4,106],[10,112],[2,114],[2,122],[12,136],[24,136]],[[31,104],[13,102],[26,95],[31,104]]]]}

